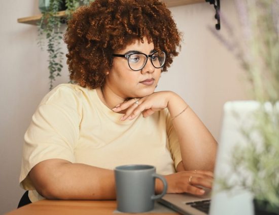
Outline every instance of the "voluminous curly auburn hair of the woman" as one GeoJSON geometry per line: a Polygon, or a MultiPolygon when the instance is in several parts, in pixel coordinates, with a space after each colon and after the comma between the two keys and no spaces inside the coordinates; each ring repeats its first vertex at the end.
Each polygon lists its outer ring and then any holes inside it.
{"type": "Polygon", "coordinates": [[[180,50],[181,35],[165,4],[158,0],[96,0],[80,7],[64,35],[70,78],[95,89],[112,67],[113,53],[146,37],[166,53],[162,71],[180,50]]]}

